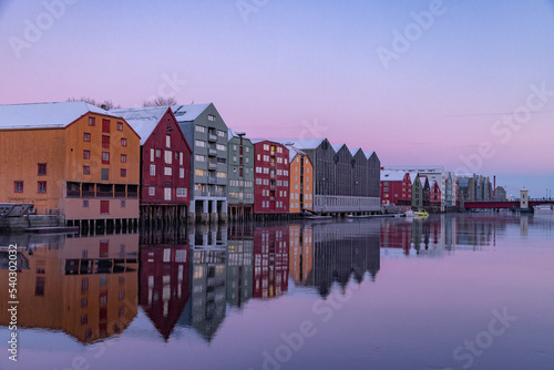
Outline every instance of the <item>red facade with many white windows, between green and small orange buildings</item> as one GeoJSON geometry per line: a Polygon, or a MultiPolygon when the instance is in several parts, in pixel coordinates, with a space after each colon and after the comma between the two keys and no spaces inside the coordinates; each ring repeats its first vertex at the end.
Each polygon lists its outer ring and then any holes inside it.
{"type": "Polygon", "coordinates": [[[289,169],[288,148],[285,145],[270,141],[254,144],[254,213],[288,213],[289,169]],[[268,145],[269,150],[264,150],[264,145],[268,145]],[[278,148],[280,148],[280,153],[278,148]],[[269,161],[264,161],[264,156],[267,156],[269,161]],[[260,172],[257,168],[260,168],[260,172]],[[264,173],[264,168],[266,168],[267,173],[264,173]],[[287,175],[284,175],[285,171],[287,175]],[[280,175],[277,174],[278,172],[280,172],[280,175]],[[258,184],[258,178],[261,184],[258,184]],[[264,207],[264,205],[266,206],[264,207]]]}

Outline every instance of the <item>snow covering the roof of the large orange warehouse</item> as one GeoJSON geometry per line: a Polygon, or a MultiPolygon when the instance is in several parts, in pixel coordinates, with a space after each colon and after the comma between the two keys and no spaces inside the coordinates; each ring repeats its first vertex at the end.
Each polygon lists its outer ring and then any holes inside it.
{"type": "Polygon", "coordinates": [[[89,112],[116,116],[84,102],[0,105],[0,130],[61,129],[89,112]]]}

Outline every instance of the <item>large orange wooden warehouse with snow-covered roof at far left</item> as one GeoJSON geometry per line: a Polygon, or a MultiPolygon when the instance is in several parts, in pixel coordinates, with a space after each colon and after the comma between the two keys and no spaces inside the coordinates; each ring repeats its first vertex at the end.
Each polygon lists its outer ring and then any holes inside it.
{"type": "Polygon", "coordinates": [[[137,225],[140,137],[83,102],[0,105],[0,203],[66,225],[137,225]]]}

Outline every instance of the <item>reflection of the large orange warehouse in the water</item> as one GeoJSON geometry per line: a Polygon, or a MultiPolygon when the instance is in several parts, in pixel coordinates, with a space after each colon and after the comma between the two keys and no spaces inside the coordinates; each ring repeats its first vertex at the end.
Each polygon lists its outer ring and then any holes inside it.
{"type": "MultiPolygon", "coordinates": [[[[137,312],[136,234],[90,237],[9,236],[18,244],[18,326],[62,330],[82,343],[122,332],[137,312]]],[[[7,255],[2,251],[2,258],[7,255]]],[[[0,280],[8,281],[1,264],[0,280]]],[[[8,285],[0,299],[9,301],[8,285]]],[[[9,322],[0,312],[0,325],[9,322]]]]}

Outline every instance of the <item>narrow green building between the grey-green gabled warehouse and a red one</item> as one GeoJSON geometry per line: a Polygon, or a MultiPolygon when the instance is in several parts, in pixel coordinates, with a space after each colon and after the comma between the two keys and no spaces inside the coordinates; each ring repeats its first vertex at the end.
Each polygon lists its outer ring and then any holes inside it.
{"type": "Polygon", "coordinates": [[[254,210],[254,144],[243,133],[228,130],[228,214],[250,218],[254,210]]]}

